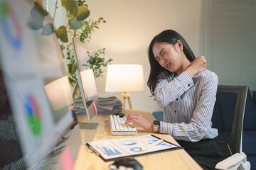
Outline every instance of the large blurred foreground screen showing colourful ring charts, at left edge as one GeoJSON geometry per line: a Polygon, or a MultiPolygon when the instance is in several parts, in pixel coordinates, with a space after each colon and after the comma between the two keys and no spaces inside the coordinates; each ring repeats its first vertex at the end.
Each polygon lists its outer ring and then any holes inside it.
{"type": "Polygon", "coordinates": [[[0,0],[0,68],[17,125],[14,130],[20,132],[23,155],[44,151],[45,155],[33,155],[38,160],[51,153],[73,125],[63,55],[55,33],[46,35],[50,24],[53,19],[27,1],[0,0]]]}

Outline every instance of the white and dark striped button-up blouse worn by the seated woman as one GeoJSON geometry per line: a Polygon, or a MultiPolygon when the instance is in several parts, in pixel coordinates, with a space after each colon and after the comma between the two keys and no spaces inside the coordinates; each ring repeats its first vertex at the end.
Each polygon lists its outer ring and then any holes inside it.
{"type": "Polygon", "coordinates": [[[164,108],[160,132],[191,142],[217,137],[218,130],[211,128],[217,86],[217,75],[207,69],[192,79],[186,71],[161,79],[154,91],[156,102],[164,108]]]}

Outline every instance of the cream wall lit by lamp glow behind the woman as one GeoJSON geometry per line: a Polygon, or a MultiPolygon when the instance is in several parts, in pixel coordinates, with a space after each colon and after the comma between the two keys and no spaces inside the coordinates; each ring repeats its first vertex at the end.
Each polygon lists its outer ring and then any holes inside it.
{"type": "MultiPolygon", "coordinates": [[[[173,29],[186,39],[196,56],[199,51],[201,0],[87,0],[90,18],[105,18],[106,23],[92,34],[89,50],[106,48],[105,58],[112,64],[142,64],[144,92],[131,94],[132,107],[150,112],[162,111],[151,96],[146,81],[149,77],[147,49],[151,39],[162,30],[173,29]]],[[[105,77],[96,79],[98,93],[105,93],[105,77]]],[[[128,108],[126,104],[126,108],[128,108]]]]}

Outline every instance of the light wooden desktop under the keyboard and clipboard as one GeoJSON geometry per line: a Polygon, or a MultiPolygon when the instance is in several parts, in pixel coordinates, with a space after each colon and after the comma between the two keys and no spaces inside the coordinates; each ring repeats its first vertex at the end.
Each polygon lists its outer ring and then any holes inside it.
{"type": "MultiPolygon", "coordinates": [[[[145,110],[126,110],[125,114],[139,112],[144,115],[148,120],[155,120],[151,113],[145,110]]],[[[92,150],[85,144],[91,141],[97,140],[108,140],[118,139],[123,137],[135,137],[142,135],[154,134],[157,137],[161,137],[164,140],[172,142],[176,145],[178,143],[174,140],[171,135],[163,135],[160,133],[146,131],[139,127],[136,123],[134,125],[137,128],[138,134],[131,136],[112,136],[110,132],[110,120],[109,115],[97,115],[94,116],[91,122],[99,122],[97,130],[80,130],[82,135],[82,146],[78,153],[78,158],[75,162],[75,169],[108,169],[108,166],[113,162],[104,162],[100,157],[97,156],[92,150]]],[[[78,122],[87,121],[86,115],[78,115],[78,122]]],[[[161,152],[158,154],[149,154],[142,157],[135,157],[137,161],[142,164],[143,169],[202,169],[187,153],[184,149],[178,149],[169,152],[161,152]]]]}

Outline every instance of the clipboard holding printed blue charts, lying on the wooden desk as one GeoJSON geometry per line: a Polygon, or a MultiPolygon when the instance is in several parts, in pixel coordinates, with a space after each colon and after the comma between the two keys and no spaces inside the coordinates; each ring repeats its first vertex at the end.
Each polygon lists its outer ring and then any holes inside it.
{"type": "Polygon", "coordinates": [[[154,145],[154,142],[157,143],[159,140],[161,140],[161,138],[156,137],[155,135],[144,135],[139,137],[87,142],[86,145],[105,162],[126,157],[139,157],[147,154],[182,149],[182,147],[174,145],[166,140],[163,140],[159,145],[154,145]],[[142,149],[149,145],[151,145],[151,147],[142,149]]]}

